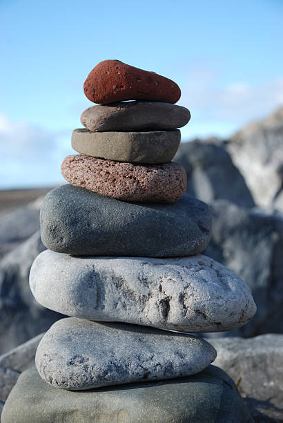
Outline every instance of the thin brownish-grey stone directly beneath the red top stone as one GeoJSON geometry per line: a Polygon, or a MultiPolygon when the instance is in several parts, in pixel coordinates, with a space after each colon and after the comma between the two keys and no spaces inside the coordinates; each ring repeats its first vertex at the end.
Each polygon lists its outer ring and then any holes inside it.
{"type": "Polygon", "coordinates": [[[164,102],[121,102],[92,106],[81,113],[90,131],[160,131],[182,128],[191,118],[183,106],[164,102]]]}

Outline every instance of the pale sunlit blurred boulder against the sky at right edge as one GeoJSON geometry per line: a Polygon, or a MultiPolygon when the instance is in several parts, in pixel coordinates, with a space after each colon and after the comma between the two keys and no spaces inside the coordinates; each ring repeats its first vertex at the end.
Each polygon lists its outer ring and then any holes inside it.
{"type": "Polygon", "coordinates": [[[282,193],[282,140],[283,107],[261,122],[248,124],[226,142],[226,149],[259,206],[271,205],[282,193]]]}

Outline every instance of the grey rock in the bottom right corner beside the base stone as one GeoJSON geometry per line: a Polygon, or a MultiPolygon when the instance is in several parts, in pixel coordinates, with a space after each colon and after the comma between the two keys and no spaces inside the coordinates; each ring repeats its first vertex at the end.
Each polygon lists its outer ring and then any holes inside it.
{"type": "Polygon", "coordinates": [[[283,335],[210,339],[215,365],[237,383],[255,422],[283,421],[283,335]]]}

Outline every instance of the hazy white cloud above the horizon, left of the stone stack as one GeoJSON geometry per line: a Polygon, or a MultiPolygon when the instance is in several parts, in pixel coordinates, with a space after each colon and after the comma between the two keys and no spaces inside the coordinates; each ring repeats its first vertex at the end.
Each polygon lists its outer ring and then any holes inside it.
{"type": "Polygon", "coordinates": [[[71,153],[70,135],[52,133],[0,114],[0,187],[54,185],[60,165],[71,153]]]}

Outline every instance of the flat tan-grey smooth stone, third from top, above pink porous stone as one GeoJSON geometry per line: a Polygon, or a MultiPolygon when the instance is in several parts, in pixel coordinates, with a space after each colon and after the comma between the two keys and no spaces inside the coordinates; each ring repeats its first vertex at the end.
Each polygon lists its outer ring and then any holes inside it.
{"type": "Polygon", "coordinates": [[[72,148],[79,153],[130,163],[170,162],[180,140],[179,129],[148,132],[90,132],[88,129],[75,129],[72,132],[72,148]]]}

